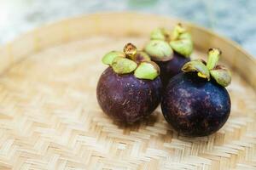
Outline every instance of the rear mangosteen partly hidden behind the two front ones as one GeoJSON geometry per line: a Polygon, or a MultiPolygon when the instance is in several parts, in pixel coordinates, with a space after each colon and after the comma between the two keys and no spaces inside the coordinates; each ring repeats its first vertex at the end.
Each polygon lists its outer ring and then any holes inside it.
{"type": "Polygon", "coordinates": [[[160,78],[163,86],[181,72],[193,51],[193,42],[189,32],[177,24],[173,31],[157,28],[151,32],[150,41],[144,51],[160,66],[160,78]]]}

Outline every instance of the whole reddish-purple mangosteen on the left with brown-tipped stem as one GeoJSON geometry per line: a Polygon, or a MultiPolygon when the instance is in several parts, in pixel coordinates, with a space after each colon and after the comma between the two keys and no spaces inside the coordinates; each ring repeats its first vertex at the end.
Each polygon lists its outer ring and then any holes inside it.
{"type": "Polygon", "coordinates": [[[137,122],[160,104],[160,68],[148,54],[128,43],[124,52],[112,51],[102,62],[109,66],[97,83],[96,97],[102,111],[113,120],[137,122]]]}

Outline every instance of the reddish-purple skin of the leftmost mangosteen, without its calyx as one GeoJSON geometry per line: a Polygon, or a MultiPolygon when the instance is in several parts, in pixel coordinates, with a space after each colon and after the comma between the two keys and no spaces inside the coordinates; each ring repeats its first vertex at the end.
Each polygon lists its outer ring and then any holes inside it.
{"type": "Polygon", "coordinates": [[[96,96],[108,116],[119,122],[137,122],[160,104],[160,77],[142,80],[133,74],[118,75],[108,67],[99,79],[96,96]]]}

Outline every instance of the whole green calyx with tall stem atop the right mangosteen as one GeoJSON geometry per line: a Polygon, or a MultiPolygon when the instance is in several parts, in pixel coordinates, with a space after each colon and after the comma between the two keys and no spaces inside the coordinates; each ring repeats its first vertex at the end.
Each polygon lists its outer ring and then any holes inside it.
{"type": "Polygon", "coordinates": [[[230,71],[223,65],[217,65],[221,51],[218,48],[210,48],[207,64],[203,60],[192,60],[183,65],[183,72],[197,71],[198,77],[211,77],[221,86],[227,87],[231,82],[230,71]]]}

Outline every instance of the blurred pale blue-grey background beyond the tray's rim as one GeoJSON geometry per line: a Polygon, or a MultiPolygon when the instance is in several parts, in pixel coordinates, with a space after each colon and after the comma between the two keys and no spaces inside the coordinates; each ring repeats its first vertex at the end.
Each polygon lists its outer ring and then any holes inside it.
{"type": "Polygon", "coordinates": [[[256,56],[255,0],[0,0],[0,45],[55,20],[127,10],[177,17],[207,27],[256,56]]]}

